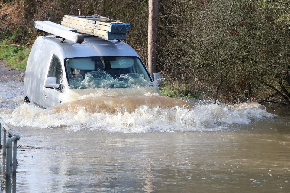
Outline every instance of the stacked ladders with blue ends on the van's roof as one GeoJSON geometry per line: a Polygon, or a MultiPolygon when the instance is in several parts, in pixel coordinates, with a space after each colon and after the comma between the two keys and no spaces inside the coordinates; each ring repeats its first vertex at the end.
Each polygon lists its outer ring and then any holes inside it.
{"type": "Polygon", "coordinates": [[[123,23],[121,20],[112,20],[99,15],[65,15],[61,24],[76,29],[80,33],[95,35],[106,40],[126,40],[127,33],[130,31],[129,23],[123,23]]]}

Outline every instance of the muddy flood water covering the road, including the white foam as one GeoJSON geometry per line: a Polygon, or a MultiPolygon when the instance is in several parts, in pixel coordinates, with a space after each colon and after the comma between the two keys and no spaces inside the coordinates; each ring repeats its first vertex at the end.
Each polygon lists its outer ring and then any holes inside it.
{"type": "Polygon", "coordinates": [[[290,191],[287,107],[55,113],[22,104],[22,83],[0,87],[0,117],[21,135],[17,192],[290,191]]]}

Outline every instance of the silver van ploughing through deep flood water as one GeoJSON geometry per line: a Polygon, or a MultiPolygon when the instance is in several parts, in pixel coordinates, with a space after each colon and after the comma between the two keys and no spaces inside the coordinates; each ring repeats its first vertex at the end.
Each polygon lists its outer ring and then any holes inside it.
{"type": "MultiPolygon", "coordinates": [[[[158,73],[154,76],[161,78],[158,73]]],[[[84,35],[79,44],[40,36],[27,61],[24,102],[45,109],[68,102],[63,97],[67,90],[88,94],[94,89],[135,86],[154,87],[144,63],[127,43],[84,35]]]]}

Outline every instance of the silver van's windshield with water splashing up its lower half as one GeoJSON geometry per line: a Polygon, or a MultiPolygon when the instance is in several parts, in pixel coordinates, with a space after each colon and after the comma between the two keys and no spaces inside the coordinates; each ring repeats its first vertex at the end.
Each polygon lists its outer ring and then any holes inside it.
{"type": "Polygon", "coordinates": [[[137,57],[67,58],[70,88],[127,88],[149,86],[151,79],[137,57]]]}

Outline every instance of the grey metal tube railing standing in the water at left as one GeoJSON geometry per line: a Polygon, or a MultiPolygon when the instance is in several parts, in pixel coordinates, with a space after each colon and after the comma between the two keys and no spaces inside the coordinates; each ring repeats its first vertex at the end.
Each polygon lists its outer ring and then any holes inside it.
{"type": "MultiPolygon", "coordinates": [[[[6,123],[0,118],[0,128],[3,131],[3,174],[5,175],[6,182],[10,181],[10,176],[16,176],[17,167],[17,141],[20,139],[20,135],[15,134],[6,123]],[[9,138],[6,139],[6,134],[9,138]],[[6,163],[6,164],[5,164],[6,163]],[[12,171],[11,171],[12,166],[12,171]]],[[[0,141],[1,141],[1,129],[0,129],[0,141]]],[[[3,176],[4,177],[4,176],[3,176]]]]}

